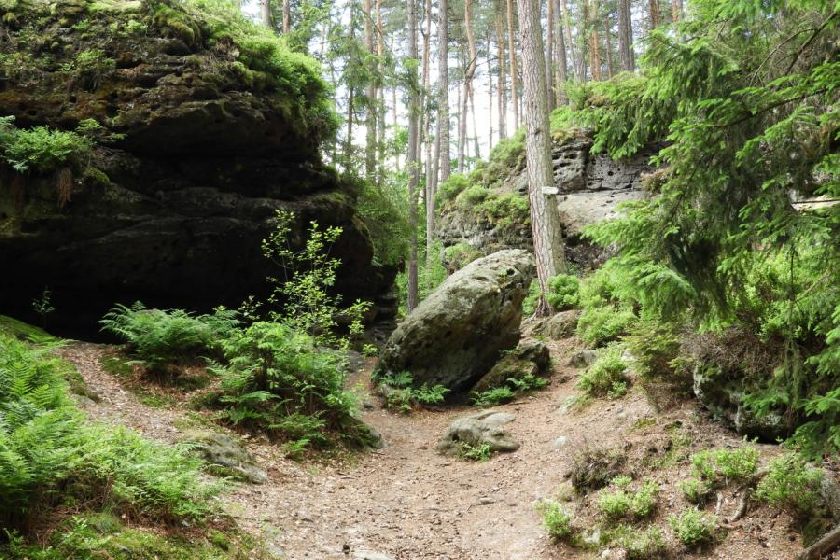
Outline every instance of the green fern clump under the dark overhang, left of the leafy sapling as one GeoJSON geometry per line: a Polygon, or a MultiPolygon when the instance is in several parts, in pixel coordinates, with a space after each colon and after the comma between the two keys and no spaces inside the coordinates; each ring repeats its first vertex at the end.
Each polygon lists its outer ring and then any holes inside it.
{"type": "Polygon", "coordinates": [[[117,304],[100,321],[103,331],[125,340],[129,352],[152,372],[218,358],[221,340],[237,323],[237,313],[221,307],[195,316],[182,309],[147,309],[139,301],[131,307],[117,304]]]}

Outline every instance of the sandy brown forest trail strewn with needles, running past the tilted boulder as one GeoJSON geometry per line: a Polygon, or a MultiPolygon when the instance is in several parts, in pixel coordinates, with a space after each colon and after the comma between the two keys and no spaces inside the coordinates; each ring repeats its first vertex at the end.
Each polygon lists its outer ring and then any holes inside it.
{"type": "MultiPolygon", "coordinates": [[[[689,436],[692,450],[735,446],[740,440],[689,403],[656,412],[638,389],[621,400],[567,409],[564,402],[575,394],[577,370],[568,363],[576,344],[575,339],[548,343],[554,361],[549,387],[496,407],[516,416],[507,426],[521,443],[515,453],[478,463],[441,456],[434,446],[449,422],[475,408],[400,415],[381,408],[368,393],[364,419],[380,431],[385,448],[322,462],[294,462],[284,458],[278,446],[249,438],[247,446],[270,481],[231,483],[221,497],[224,509],[243,529],[262,535],[269,550],[287,559],[361,559],[366,557],[362,552],[399,560],[597,558],[595,552],[553,543],[535,509],[541,499],[557,499],[577,451],[588,445],[623,449],[629,471],[648,475],[642,459],[669,451],[668,434],[675,426],[689,436]],[[567,442],[555,449],[560,436],[567,442]]],[[[183,406],[143,404],[124,386],[124,379],[102,368],[100,359],[110,348],[73,343],[59,351],[100,396],[98,403],[84,404],[87,413],[154,439],[178,441],[182,431],[195,424],[196,414],[183,406]]],[[[368,361],[352,377],[359,390],[369,391],[373,363],[368,361]]],[[[777,453],[775,446],[759,448],[765,460],[777,453]]],[[[680,505],[676,482],[688,476],[688,468],[672,465],[650,475],[662,485],[662,519],[680,505]]],[[[734,511],[735,492],[726,492],[722,516],[734,511]]],[[[586,498],[578,506],[576,517],[582,523],[594,515],[594,500],[586,498]]],[[[792,558],[801,545],[788,525],[786,516],[758,508],[735,523],[711,552],[690,557],[792,558]]]]}

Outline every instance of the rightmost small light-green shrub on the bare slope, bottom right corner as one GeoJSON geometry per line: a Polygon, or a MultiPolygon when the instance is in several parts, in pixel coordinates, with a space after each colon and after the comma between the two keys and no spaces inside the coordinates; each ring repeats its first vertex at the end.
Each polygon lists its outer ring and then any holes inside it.
{"type": "Polygon", "coordinates": [[[822,505],[820,483],[823,473],[801,457],[787,454],[770,462],[770,469],[756,487],[756,498],[789,511],[800,518],[815,516],[822,505]]]}

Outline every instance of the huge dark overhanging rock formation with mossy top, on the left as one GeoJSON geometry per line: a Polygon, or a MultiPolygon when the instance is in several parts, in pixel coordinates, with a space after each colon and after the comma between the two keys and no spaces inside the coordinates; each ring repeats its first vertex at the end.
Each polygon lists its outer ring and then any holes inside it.
{"type": "Polygon", "coordinates": [[[51,326],[78,332],[118,301],[237,306],[279,273],[260,249],[279,209],[296,213],[299,243],[311,220],[343,228],[332,254],[348,300],[389,289],[357,193],[321,163],[335,125],[312,59],[239,41],[241,21],[220,23],[237,16],[188,3],[7,4],[0,116],[100,128],[68,192],[52,171],[0,170],[0,308],[31,314],[48,286],[51,326]]]}

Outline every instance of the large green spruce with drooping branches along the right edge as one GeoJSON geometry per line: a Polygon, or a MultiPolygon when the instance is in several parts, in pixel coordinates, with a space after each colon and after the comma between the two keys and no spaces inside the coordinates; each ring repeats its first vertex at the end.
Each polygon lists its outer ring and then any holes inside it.
{"type": "Polygon", "coordinates": [[[669,141],[656,196],[590,231],[619,246],[625,289],[645,314],[744,328],[775,348],[745,403],[795,419],[792,443],[811,457],[840,447],[840,205],[791,200],[840,192],[832,10],[703,0],[652,34],[640,75],[571,94],[596,150],[669,141]]]}

